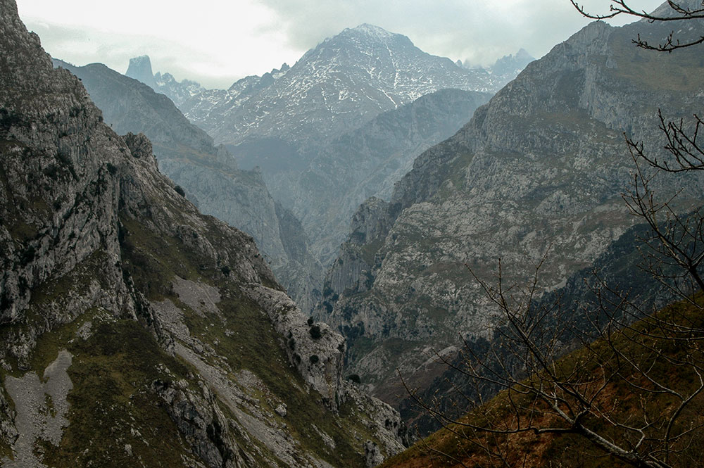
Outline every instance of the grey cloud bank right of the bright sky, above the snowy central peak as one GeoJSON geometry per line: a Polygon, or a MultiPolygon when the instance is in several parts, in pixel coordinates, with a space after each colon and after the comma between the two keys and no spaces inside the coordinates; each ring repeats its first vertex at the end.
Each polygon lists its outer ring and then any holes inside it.
{"type": "MultiPolygon", "coordinates": [[[[524,47],[547,53],[586,25],[569,0],[263,0],[289,41],[308,49],[345,27],[372,23],[410,37],[425,51],[489,64],[524,47]]],[[[655,8],[660,0],[640,1],[655,8]]],[[[608,1],[589,6],[608,10],[608,1]]]]}

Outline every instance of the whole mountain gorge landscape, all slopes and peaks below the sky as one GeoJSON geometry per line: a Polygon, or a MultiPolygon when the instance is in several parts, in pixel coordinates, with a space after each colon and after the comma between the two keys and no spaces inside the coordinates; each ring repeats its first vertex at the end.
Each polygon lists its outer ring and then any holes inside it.
{"type": "Polygon", "coordinates": [[[699,466],[704,4],[605,4],[218,89],[0,0],[0,466],[699,466]]]}

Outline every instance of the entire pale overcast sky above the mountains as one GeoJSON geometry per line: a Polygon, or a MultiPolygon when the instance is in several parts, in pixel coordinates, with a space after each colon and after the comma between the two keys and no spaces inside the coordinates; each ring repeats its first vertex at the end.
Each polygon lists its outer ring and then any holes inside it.
{"type": "MultiPolygon", "coordinates": [[[[18,0],[51,56],[125,72],[149,55],[154,72],[206,87],[261,75],[346,27],[371,23],[453,61],[490,65],[523,47],[539,58],[587,20],[569,0],[18,0]]],[[[608,11],[608,0],[586,0],[608,11]]],[[[650,11],[662,0],[632,0],[650,11]]],[[[620,22],[620,24],[622,24],[620,22]]]]}

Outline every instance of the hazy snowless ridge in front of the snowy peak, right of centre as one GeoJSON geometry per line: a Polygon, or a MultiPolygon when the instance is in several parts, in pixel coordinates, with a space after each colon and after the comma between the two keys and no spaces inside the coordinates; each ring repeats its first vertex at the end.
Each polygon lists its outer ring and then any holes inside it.
{"type": "Polygon", "coordinates": [[[370,196],[388,199],[413,159],[450,137],[491,95],[443,89],[389,110],[321,148],[300,175],[272,176],[272,195],[290,200],[322,263],[334,260],[349,220],[370,196]]]}

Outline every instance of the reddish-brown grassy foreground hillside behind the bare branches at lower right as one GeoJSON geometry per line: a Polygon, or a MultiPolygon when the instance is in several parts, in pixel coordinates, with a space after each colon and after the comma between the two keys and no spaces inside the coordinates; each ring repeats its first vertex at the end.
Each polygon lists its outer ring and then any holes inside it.
{"type": "MultiPolygon", "coordinates": [[[[586,412],[579,424],[570,427],[560,422],[547,406],[534,407],[531,415],[523,409],[532,407],[526,403],[534,398],[533,393],[503,391],[459,418],[459,424],[448,424],[382,467],[699,467],[704,446],[704,393],[698,372],[704,355],[695,342],[701,339],[704,326],[701,312],[701,296],[698,305],[674,303],[622,333],[615,332],[609,339],[560,359],[554,366],[560,379],[581,379],[582,388],[591,386],[584,393],[592,396],[590,404],[595,411],[586,412]],[[697,335],[690,334],[690,341],[682,340],[679,333],[685,329],[697,335]],[[632,361],[623,362],[624,356],[632,361]],[[645,371],[631,366],[634,362],[645,371]],[[681,405],[680,397],[691,399],[681,405]],[[516,407],[522,410],[515,411],[516,407]],[[673,424],[669,424],[670,418],[673,424]],[[537,434],[531,429],[506,436],[470,427],[486,426],[487,421],[503,430],[523,424],[525,428],[532,425],[562,431],[537,434]],[[642,431],[625,429],[636,426],[642,431]],[[643,456],[646,462],[631,464],[608,455],[588,440],[583,427],[629,454],[643,456]]],[[[538,376],[532,379],[538,381],[538,376]]],[[[565,398],[563,407],[579,407],[565,398]]],[[[627,458],[626,453],[622,455],[627,458]]]]}

